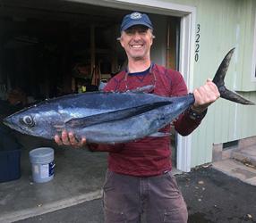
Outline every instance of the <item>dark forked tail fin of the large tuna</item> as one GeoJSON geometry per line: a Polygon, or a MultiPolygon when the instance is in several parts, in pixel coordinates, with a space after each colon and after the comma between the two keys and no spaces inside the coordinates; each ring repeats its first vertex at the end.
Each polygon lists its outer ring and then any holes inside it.
{"type": "Polygon", "coordinates": [[[223,61],[220,63],[218,70],[213,78],[213,83],[216,84],[218,87],[218,91],[220,93],[220,97],[225,98],[226,100],[235,102],[235,103],[242,103],[242,104],[255,104],[249,101],[248,99],[244,98],[242,95],[238,95],[237,93],[228,90],[225,87],[225,76],[226,71],[229,66],[229,62],[231,60],[232,55],[234,54],[235,48],[231,49],[226,56],[224,57],[223,61]]]}

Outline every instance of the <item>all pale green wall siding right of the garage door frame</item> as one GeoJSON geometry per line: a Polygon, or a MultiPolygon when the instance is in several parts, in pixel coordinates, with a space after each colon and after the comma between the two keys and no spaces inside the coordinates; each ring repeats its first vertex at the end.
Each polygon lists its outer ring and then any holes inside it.
{"type": "MultiPolygon", "coordinates": [[[[256,102],[252,81],[252,45],[256,1],[170,0],[196,7],[196,24],[201,25],[200,59],[194,63],[193,87],[212,78],[226,53],[235,54],[226,74],[226,87],[256,102]]],[[[256,136],[256,106],[224,99],[209,107],[200,128],[192,133],[192,167],[212,160],[212,146],[256,136]]]]}

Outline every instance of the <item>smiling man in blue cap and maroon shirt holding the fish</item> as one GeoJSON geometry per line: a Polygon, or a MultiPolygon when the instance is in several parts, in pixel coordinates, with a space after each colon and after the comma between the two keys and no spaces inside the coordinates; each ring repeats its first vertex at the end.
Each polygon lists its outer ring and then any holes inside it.
{"type": "MultiPolygon", "coordinates": [[[[126,70],[112,78],[105,91],[127,91],[152,85],[149,93],[163,96],[186,95],[182,75],[150,61],[153,26],[148,15],[132,12],[121,25],[120,44],[128,58],[126,70]]],[[[197,128],[210,103],[219,97],[218,88],[210,80],[193,91],[195,103],[174,121],[175,129],[183,136],[197,128]]],[[[170,130],[170,126],[161,129],[170,130]]],[[[73,133],[55,136],[58,145],[86,144],[77,142],[73,133]]],[[[108,169],[103,186],[105,221],[115,222],[187,222],[188,213],[183,196],[171,173],[168,136],[148,136],[119,145],[89,145],[96,151],[107,151],[108,169]]]]}

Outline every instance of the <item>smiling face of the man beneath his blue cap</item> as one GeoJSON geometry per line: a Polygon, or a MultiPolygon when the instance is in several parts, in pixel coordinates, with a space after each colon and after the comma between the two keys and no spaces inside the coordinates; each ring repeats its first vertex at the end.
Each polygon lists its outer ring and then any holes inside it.
{"type": "Polygon", "coordinates": [[[132,26],[122,32],[120,43],[129,59],[143,60],[149,58],[153,35],[145,26],[132,26]]]}

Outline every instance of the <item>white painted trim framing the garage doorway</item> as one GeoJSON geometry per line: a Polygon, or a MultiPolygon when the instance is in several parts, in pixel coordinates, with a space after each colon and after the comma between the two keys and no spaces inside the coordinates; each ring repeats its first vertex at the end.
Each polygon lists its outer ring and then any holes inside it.
{"type": "MultiPolygon", "coordinates": [[[[181,17],[179,70],[189,89],[192,89],[196,8],[190,5],[167,3],[161,0],[65,0],[132,11],[143,11],[181,17]]],[[[192,137],[177,136],[177,169],[191,169],[192,137]]]]}

